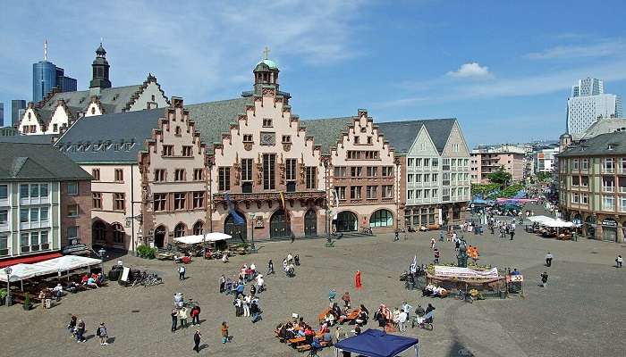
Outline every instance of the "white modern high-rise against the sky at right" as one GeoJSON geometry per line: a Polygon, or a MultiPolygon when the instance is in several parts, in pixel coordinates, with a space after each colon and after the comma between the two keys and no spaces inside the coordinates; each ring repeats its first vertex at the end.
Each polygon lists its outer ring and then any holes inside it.
{"type": "Polygon", "coordinates": [[[622,97],[605,94],[601,79],[579,79],[578,85],[571,87],[571,97],[567,100],[567,132],[576,137],[600,117],[622,117],[622,97]]]}

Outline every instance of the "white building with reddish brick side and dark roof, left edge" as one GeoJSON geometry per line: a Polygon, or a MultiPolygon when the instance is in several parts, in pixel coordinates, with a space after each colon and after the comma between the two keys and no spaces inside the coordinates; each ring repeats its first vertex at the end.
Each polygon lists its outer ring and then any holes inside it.
{"type": "Polygon", "coordinates": [[[0,143],[0,171],[0,264],[90,245],[87,172],[48,144],[26,143],[0,143]]]}

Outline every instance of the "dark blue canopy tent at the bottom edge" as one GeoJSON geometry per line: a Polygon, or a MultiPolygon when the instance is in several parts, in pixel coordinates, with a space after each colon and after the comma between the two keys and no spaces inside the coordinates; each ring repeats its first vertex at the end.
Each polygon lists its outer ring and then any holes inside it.
{"type": "Polygon", "coordinates": [[[340,351],[355,353],[367,357],[395,357],[398,353],[415,350],[419,357],[419,341],[417,338],[389,335],[377,329],[368,328],[362,334],[346,338],[334,344],[334,353],[338,357],[340,351]]]}

